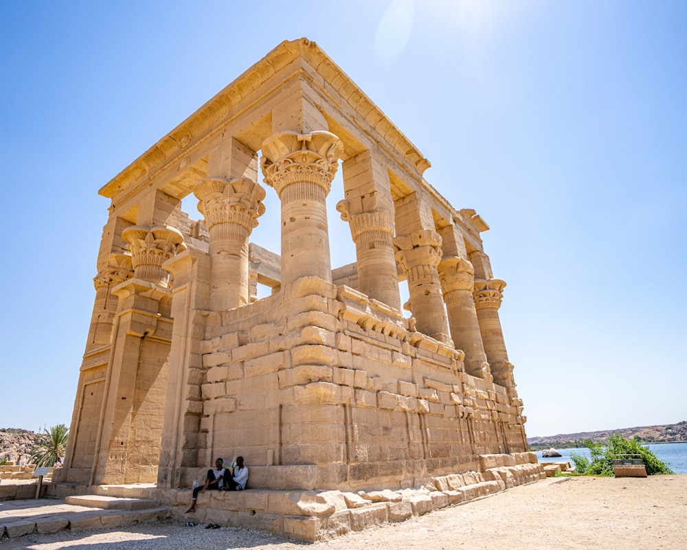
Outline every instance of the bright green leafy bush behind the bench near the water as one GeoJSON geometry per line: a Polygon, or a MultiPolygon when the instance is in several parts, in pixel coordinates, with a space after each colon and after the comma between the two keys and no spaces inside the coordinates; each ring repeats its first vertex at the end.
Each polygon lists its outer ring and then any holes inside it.
{"type": "Polygon", "coordinates": [[[577,471],[581,474],[590,476],[612,476],[613,475],[613,455],[640,455],[644,461],[646,473],[672,474],[673,470],[668,468],[668,464],[658,459],[656,455],[646,447],[640,445],[634,439],[625,439],[622,435],[614,433],[608,438],[606,444],[594,443],[587,439],[585,447],[589,449],[591,459],[580,455],[571,455],[570,458],[575,463],[577,471]]]}

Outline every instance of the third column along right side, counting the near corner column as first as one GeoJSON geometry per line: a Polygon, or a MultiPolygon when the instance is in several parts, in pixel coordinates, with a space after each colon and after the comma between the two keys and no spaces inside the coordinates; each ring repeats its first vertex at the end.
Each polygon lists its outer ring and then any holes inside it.
{"type": "Polygon", "coordinates": [[[433,229],[419,229],[394,239],[396,261],[408,277],[410,310],[418,332],[453,345],[439,280],[441,237],[433,229]]]}

